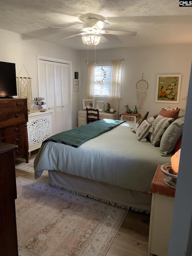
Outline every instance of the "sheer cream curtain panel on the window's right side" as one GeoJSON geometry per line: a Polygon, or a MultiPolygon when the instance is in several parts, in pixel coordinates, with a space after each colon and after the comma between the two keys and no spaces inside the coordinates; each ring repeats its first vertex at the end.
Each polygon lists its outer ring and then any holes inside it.
{"type": "Polygon", "coordinates": [[[111,86],[109,90],[108,103],[111,108],[119,113],[119,98],[121,89],[121,69],[122,61],[120,59],[114,59],[111,61],[111,86]]]}

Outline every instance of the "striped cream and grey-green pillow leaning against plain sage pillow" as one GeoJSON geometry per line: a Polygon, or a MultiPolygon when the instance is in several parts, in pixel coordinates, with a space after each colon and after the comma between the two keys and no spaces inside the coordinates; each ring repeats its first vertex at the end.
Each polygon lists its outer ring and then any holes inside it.
{"type": "Polygon", "coordinates": [[[149,140],[155,147],[160,147],[161,137],[163,136],[167,127],[174,121],[173,118],[158,116],[149,130],[149,140]]]}

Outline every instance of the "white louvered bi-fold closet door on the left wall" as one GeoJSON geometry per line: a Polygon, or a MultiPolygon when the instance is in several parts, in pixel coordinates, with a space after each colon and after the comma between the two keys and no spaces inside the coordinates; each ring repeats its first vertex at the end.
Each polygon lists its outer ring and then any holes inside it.
{"type": "Polygon", "coordinates": [[[38,76],[43,108],[53,111],[52,135],[69,130],[69,65],[39,59],[38,76]]]}

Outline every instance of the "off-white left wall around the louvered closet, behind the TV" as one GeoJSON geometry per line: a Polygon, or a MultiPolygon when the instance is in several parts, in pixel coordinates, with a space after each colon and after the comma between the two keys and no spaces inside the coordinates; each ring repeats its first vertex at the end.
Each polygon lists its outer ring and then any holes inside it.
{"type": "MultiPolygon", "coordinates": [[[[47,43],[45,41],[33,39],[3,29],[0,29],[0,38],[0,61],[15,63],[16,75],[19,74],[22,66],[25,65],[30,77],[33,77],[33,98],[39,97],[37,55],[72,61],[72,128],[76,127],[80,92],[73,92],[73,78],[75,71],[80,73],[79,52],[67,47],[47,43]]],[[[26,70],[23,67],[19,76],[28,76],[26,70]]],[[[35,107],[35,104],[33,107],[35,107]]]]}

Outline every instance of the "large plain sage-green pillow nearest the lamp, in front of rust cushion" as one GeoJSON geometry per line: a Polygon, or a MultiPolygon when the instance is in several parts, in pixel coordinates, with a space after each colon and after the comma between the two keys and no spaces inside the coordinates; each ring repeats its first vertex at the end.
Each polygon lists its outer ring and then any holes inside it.
{"type": "Polygon", "coordinates": [[[179,138],[182,136],[183,124],[184,116],[181,116],[166,129],[160,143],[161,156],[166,156],[168,153],[173,151],[179,138]]]}

